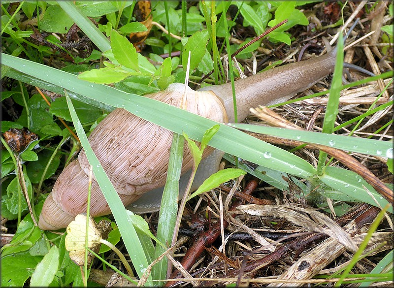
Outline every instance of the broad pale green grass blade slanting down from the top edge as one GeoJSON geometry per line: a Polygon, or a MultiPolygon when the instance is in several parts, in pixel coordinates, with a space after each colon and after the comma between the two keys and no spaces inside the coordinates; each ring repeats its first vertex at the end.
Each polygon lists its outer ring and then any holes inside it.
{"type": "Polygon", "coordinates": [[[111,49],[107,37],[99,31],[99,28],[97,28],[96,25],[88,19],[88,17],[82,14],[81,10],[79,10],[72,1],[57,0],[56,2],[60,7],[62,7],[67,15],[74,20],[76,25],[78,25],[85,35],[95,43],[101,52],[111,49]]]}

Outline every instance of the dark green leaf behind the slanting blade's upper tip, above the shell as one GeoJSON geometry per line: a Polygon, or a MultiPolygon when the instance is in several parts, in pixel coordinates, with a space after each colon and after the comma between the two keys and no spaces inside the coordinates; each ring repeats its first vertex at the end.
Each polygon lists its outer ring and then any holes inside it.
{"type": "MultiPolygon", "coordinates": [[[[78,118],[84,125],[96,121],[96,119],[102,116],[102,109],[93,107],[78,100],[73,100],[72,103],[74,104],[78,118]]],[[[71,121],[71,115],[67,108],[66,97],[56,98],[56,100],[52,102],[49,111],[57,117],[63,118],[66,121],[71,121]]]]}

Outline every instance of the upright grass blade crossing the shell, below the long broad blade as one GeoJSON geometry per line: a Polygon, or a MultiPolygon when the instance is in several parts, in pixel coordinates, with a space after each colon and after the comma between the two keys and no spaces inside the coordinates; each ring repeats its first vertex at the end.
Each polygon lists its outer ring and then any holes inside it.
{"type": "MultiPolygon", "coordinates": [[[[157,238],[162,243],[171,243],[174,231],[176,215],[178,212],[179,178],[182,170],[184,139],[181,135],[174,133],[168,162],[167,179],[164,186],[161,209],[159,212],[159,223],[157,227],[157,238]]],[[[155,259],[164,253],[163,247],[156,245],[155,259]]],[[[167,258],[164,257],[152,268],[153,279],[165,279],[167,273],[167,258]]],[[[158,283],[162,286],[163,283],[158,283]]]]}

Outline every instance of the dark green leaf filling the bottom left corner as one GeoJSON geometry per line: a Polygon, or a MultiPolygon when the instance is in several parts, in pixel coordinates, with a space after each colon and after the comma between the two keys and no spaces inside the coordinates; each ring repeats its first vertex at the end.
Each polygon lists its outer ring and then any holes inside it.
{"type": "Polygon", "coordinates": [[[41,256],[31,256],[28,252],[1,257],[1,286],[23,287],[41,256]]]}

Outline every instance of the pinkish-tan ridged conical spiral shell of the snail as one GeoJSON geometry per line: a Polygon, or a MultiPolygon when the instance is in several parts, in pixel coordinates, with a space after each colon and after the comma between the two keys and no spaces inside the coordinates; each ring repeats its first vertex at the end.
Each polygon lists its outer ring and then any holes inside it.
{"type": "MultiPolygon", "coordinates": [[[[184,97],[184,85],[175,83],[168,89],[148,97],[179,107],[184,97]]],[[[222,101],[211,91],[197,92],[188,88],[186,109],[218,122],[227,122],[222,101]]],[[[160,115],[160,111],[157,111],[160,115]]],[[[89,136],[89,142],[102,167],[125,205],[144,192],[165,183],[172,132],[118,108],[112,111],[89,136]]],[[[207,148],[204,156],[213,150],[207,148]]],[[[184,152],[182,171],[189,170],[193,159],[184,152]]],[[[89,162],[81,151],[59,176],[44,203],[39,227],[55,230],[66,227],[78,213],[86,212],[89,182],[89,162]]],[[[110,213],[95,179],[92,181],[91,214],[110,213]]]]}

